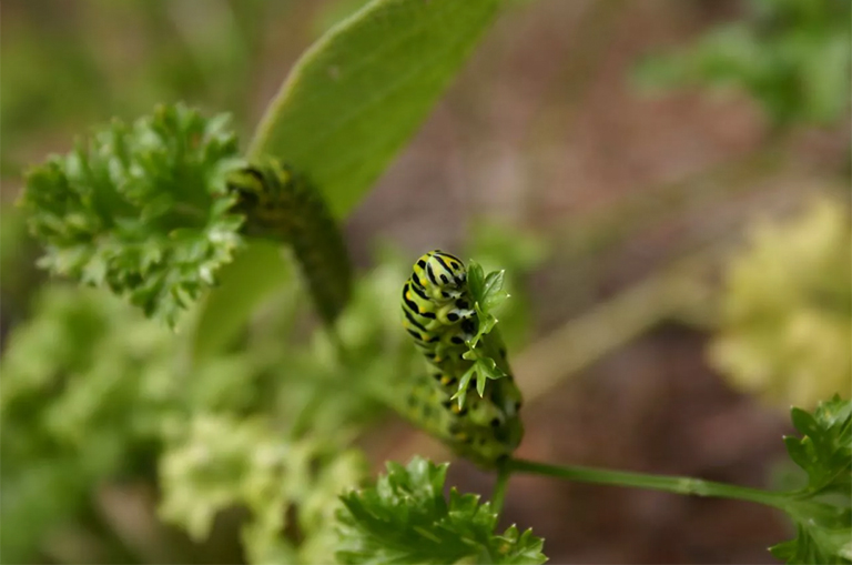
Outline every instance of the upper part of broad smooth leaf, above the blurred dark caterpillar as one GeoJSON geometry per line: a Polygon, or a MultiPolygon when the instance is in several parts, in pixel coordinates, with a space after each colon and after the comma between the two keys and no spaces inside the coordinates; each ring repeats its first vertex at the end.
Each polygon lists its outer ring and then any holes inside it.
{"type": "Polygon", "coordinates": [[[252,142],[343,216],[416,131],[504,0],[374,0],[296,63],[252,142]]]}

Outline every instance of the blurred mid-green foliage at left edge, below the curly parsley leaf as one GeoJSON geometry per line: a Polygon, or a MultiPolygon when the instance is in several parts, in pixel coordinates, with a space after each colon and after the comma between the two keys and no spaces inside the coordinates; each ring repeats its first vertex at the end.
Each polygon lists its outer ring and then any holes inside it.
{"type": "Polygon", "coordinates": [[[180,346],[106,293],[43,287],[2,359],[7,563],[32,561],[52,527],[84,515],[100,482],[151,476],[163,426],[199,410],[257,406],[262,360],[235,354],[191,369],[180,346]]]}

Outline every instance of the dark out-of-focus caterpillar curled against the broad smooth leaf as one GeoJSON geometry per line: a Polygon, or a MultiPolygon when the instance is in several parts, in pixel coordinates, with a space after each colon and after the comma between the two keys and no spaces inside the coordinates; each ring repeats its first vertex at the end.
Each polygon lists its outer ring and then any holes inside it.
{"type": "Polygon", "coordinates": [[[320,192],[274,158],[229,178],[234,211],[245,215],[246,235],[283,240],[296,261],[323,321],[334,322],[352,295],[352,263],[343,234],[320,192]]]}

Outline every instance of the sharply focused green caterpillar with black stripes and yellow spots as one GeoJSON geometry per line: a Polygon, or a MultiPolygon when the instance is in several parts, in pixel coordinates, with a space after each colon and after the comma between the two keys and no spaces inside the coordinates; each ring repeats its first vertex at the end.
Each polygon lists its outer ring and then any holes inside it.
{"type": "Polygon", "coordinates": [[[509,456],[524,435],[518,417],[521,397],[496,331],[486,334],[477,347],[483,347],[506,376],[488,380],[483,397],[470,391],[464,406],[450,400],[462,375],[473,365],[463,355],[479,324],[464,263],[442,251],[430,251],[417,260],[403,286],[403,315],[404,327],[429,367],[428,375],[414,383],[404,414],[483,466],[494,466],[509,456]]]}

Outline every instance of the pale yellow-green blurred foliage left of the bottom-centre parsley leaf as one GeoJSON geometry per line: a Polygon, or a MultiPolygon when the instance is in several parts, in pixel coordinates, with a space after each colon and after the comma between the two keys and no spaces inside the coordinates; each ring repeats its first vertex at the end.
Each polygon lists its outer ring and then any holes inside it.
{"type": "Polygon", "coordinates": [[[359,451],[328,437],[287,442],[268,421],[203,413],[175,432],[160,465],[164,519],[201,541],[219,512],[241,505],[248,563],[331,562],[337,497],[366,474],[359,451]]]}

